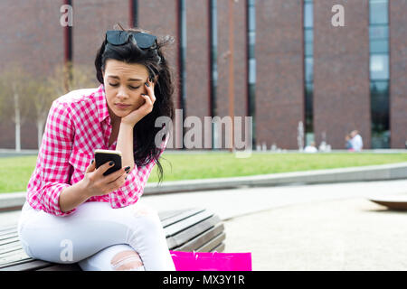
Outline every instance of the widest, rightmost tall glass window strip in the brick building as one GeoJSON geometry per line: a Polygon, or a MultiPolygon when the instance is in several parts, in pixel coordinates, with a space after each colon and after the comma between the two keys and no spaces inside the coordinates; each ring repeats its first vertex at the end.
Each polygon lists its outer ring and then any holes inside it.
{"type": "Polygon", "coordinates": [[[388,0],[369,1],[370,103],[372,148],[390,147],[388,0]]]}

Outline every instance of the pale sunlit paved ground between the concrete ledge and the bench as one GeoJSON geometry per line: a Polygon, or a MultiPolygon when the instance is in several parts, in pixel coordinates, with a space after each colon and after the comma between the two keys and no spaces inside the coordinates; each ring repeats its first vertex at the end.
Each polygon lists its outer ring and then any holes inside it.
{"type": "MultiPolygon", "coordinates": [[[[204,207],[225,222],[226,252],[253,270],[407,270],[407,212],[367,198],[407,194],[407,181],[349,182],[145,196],[156,210],[204,207]]],[[[19,211],[0,213],[0,226],[19,211]]]]}

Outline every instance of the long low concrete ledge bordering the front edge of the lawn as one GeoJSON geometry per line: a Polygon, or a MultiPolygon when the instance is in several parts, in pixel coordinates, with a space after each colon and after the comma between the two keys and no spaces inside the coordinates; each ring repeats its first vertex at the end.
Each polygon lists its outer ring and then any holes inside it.
{"type": "MultiPolygon", "coordinates": [[[[149,182],[144,195],[175,193],[185,191],[207,191],[239,188],[244,186],[278,186],[296,183],[329,182],[368,182],[407,179],[407,163],[369,165],[361,167],[328,169],[305,172],[282,172],[233,178],[215,178],[203,180],[149,182]]],[[[21,208],[25,200],[25,191],[1,193],[0,210],[21,208]]]]}

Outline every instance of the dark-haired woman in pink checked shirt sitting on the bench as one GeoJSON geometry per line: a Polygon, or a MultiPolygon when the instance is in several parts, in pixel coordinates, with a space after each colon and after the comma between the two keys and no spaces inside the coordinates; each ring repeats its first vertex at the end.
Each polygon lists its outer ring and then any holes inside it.
{"type": "Polygon", "coordinates": [[[155,122],[174,115],[162,51],[171,40],[108,31],[95,60],[99,88],[53,101],[18,223],[28,256],[82,270],[175,270],[156,211],[139,201],[156,163],[163,176],[168,135],[155,122]],[[104,175],[114,163],[96,169],[96,149],[120,151],[122,168],[104,175]]]}

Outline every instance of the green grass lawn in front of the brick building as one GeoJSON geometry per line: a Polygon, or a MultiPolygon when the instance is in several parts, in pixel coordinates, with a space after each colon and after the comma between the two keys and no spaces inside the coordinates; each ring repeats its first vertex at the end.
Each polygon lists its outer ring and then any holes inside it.
{"type": "MultiPolygon", "coordinates": [[[[25,191],[36,156],[0,158],[0,192],[25,191]]],[[[246,176],[407,162],[407,154],[251,154],[236,158],[229,153],[166,154],[160,159],[163,181],[246,176]]],[[[148,182],[157,182],[156,166],[148,182]]]]}

